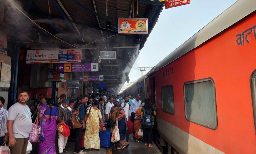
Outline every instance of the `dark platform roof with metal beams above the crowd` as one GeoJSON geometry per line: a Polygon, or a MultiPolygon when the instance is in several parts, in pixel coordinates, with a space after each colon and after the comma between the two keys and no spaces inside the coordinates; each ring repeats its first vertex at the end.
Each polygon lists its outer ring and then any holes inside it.
{"type": "Polygon", "coordinates": [[[101,83],[109,88],[129,82],[130,69],[163,9],[163,2],[150,0],[138,1],[138,14],[137,0],[4,0],[1,3],[6,13],[0,30],[20,47],[81,48],[84,63],[98,62],[99,51],[117,51],[116,60],[101,60],[99,72],[90,73],[104,75],[101,83]],[[118,17],[133,16],[148,18],[148,35],[118,34],[118,17]],[[111,24],[110,29],[107,23],[111,24]]]}

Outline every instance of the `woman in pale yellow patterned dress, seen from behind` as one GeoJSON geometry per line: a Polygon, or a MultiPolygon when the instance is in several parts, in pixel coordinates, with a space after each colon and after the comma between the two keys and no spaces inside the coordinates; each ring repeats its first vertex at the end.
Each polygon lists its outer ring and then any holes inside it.
{"type": "Polygon", "coordinates": [[[99,120],[103,125],[103,130],[105,131],[105,125],[102,120],[100,110],[98,109],[99,101],[94,101],[94,106],[88,107],[86,111],[86,116],[89,114],[86,121],[86,129],[84,134],[84,148],[85,149],[100,149],[99,141],[99,120]],[[91,111],[90,111],[91,108],[91,111]],[[90,113],[89,113],[90,112],[90,113]]]}

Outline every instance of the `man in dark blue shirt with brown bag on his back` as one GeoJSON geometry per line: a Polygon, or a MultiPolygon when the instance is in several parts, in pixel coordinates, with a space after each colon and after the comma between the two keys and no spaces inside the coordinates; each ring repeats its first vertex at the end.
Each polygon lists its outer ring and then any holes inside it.
{"type": "MultiPolygon", "coordinates": [[[[82,101],[77,103],[75,106],[75,110],[79,110],[79,114],[78,117],[79,119],[82,121],[83,125],[81,128],[76,128],[75,129],[75,149],[74,149],[74,153],[78,153],[78,154],[85,154],[85,152],[83,152],[83,150],[80,150],[80,139],[83,135],[83,129],[85,128],[85,122],[84,122],[84,117],[85,117],[85,110],[84,110],[84,104],[86,104],[88,102],[88,97],[86,95],[83,95],[81,97],[82,101]]],[[[73,117],[73,116],[72,116],[73,117]]],[[[78,118],[77,117],[77,118],[78,118]]]]}

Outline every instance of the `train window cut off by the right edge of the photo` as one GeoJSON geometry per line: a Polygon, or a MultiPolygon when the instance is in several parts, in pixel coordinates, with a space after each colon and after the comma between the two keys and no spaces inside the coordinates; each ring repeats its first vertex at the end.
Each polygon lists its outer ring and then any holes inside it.
{"type": "Polygon", "coordinates": [[[251,82],[251,98],[252,98],[253,116],[254,116],[254,129],[256,134],[256,70],[253,71],[250,82],[251,82]]]}

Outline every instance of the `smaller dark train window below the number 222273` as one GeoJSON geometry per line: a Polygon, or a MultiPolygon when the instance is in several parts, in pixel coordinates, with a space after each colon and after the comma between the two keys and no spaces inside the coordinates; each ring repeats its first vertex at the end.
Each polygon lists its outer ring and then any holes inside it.
{"type": "Polygon", "coordinates": [[[162,87],[162,109],[166,113],[174,115],[173,86],[162,87]]]}

